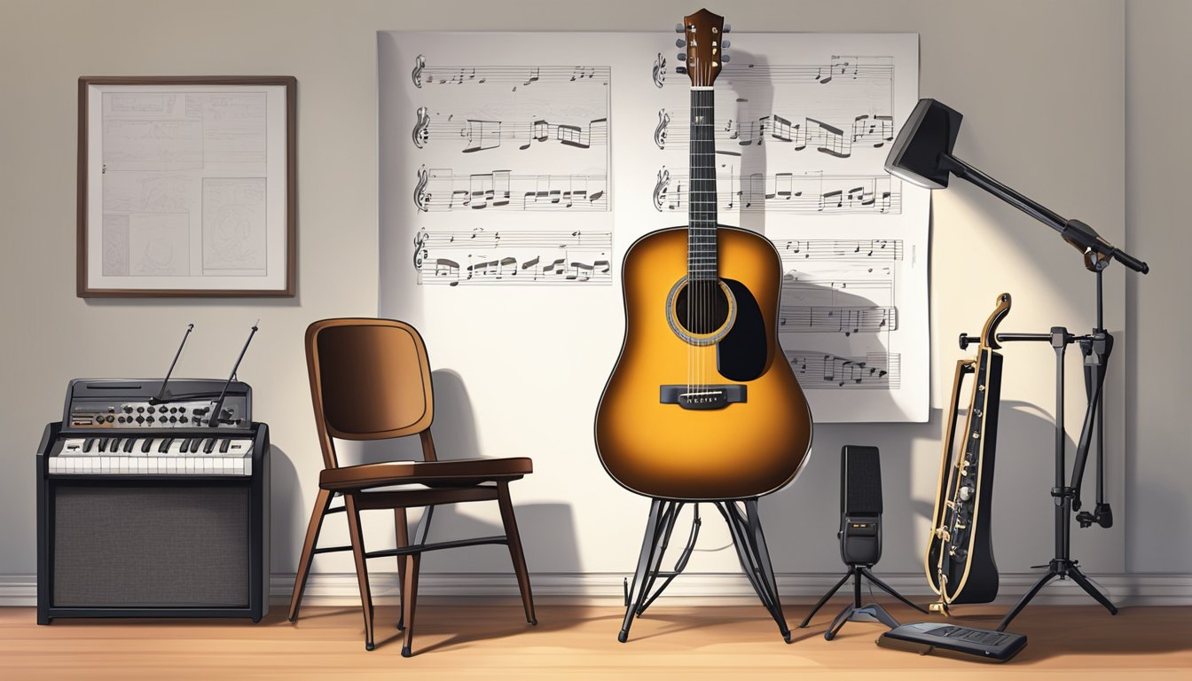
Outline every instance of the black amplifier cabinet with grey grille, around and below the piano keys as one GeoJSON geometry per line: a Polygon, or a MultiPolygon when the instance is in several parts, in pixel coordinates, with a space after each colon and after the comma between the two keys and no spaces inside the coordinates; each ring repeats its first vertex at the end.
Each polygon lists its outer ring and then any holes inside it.
{"type": "Polygon", "coordinates": [[[37,457],[37,623],[83,617],[246,617],[269,603],[269,437],[250,476],[52,475],[37,457]]]}

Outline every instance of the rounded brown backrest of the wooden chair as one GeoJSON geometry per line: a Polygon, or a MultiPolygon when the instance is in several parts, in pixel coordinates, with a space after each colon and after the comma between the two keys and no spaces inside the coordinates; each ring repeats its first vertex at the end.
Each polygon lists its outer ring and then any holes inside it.
{"type": "Polygon", "coordinates": [[[306,328],[306,370],[325,468],[339,465],[335,442],[422,435],[434,460],[430,361],[405,322],[321,320],[306,328]]]}

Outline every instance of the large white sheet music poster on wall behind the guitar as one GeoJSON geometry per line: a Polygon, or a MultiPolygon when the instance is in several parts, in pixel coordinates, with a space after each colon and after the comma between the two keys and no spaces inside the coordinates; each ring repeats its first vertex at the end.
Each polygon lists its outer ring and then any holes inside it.
{"type": "MultiPolygon", "coordinates": [[[[719,221],[782,258],[780,340],[815,421],[926,421],[929,192],[882,169],[918,100],[918,36],[726,37],[719,221]]],[[[378,35],[381,314],[470,391],[539,414],[572,400],[551,414],[591,428],[625,252],[687,223],[675,39],[378,35]]]]}

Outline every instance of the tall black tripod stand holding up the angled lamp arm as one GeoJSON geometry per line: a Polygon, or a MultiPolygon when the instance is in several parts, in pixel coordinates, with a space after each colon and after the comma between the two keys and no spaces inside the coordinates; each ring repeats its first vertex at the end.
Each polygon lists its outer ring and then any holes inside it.
{"type": "MultiPolygon", "coordinates": [[[[1088,448],[1092,442],[1093,431],[1097,431],[1097,506],[1093,513],[1084,512],[1076,515],[1081,527],[1088,527],[1097,522],[1101,527],[1113,525],[1113,515],[1110,506],[1104,499],[1104,425],[1101,389],[1105,384],[1105,373],[1109,367],[1110,352],[1113,349],[1113,336],[1105,330],[1101,316],[1101,272],[1109,265],[1107,260],[1098,260],[1093,264],[1097,274],[1097,328],[1086,336],[1074,336],[1063,327],[1053,327],[1047,334],[998,334],[1001,342],[1013,341],[1045,341],[1055,351],[1055,487],[1051,488],[1051,497],[1055,500],[1055,557],[1047,565],[1035,565],[1035,568],[1047,568],[1048,571],[1038,582],[1026,592],[1026,595],[1018,601],[1001,624],[998,631],[1005,631],[1011,620],[1031,602],[1048,582],[1058,577],[1072,577],[1080,588],[1092,596],[1097,602],[1105,606],[1110,614],[1117,614],[1118,609],[1110,602],[1088,577],[1076,568],[1076,561],[1072,559],[1072,514],[1080,510],[1080,483],[1085,473],[1085,462],[1088,458],[1088,448]],[[1080,432],[1080,441],[1076,444],[1076,456],[1072,468],[1072,478],[1064,482],[1064,444],[1066,432],[1063,426],[1063,358],[1064,351],[1072,343],[1080,343],[1085,358],[1085,392],[1088,405],[1085,409],[1084,426],[1080,432]]],[[[963,338],[962,338],[963,342],[963,338]]]]}

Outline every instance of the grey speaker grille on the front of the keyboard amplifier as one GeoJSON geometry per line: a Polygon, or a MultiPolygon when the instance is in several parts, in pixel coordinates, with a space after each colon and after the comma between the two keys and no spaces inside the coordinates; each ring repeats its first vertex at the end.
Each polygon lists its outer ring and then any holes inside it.
{"type": "Polygon", "coordinates": [[[54,491],[55,607],[248,607],[248,487],[54,491]]]}

